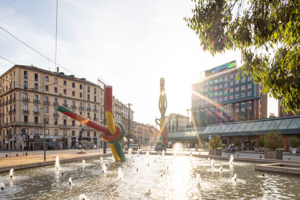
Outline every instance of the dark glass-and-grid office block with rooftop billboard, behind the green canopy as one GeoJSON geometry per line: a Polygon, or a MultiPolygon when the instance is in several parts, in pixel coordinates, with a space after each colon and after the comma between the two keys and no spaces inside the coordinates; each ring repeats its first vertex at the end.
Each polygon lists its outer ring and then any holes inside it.
{"type": "Polygon", "coordinates": [[[192,84],[192,125],[203,127],[267,118],[268,96],[250,75],[237,79],[236,61],[205,71],[192,84]]]}

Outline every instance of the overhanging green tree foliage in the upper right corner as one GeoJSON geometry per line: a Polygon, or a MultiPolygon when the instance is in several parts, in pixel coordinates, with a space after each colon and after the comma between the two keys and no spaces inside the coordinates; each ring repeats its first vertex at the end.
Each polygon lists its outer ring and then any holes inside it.
{"type": "Polygon", "coordinates": [[[300,110],[300,0],[194,1],[193,16],[184,20],[203,50],[240,50],[239,74],[282,97],[286,111],[300,110]]]}

